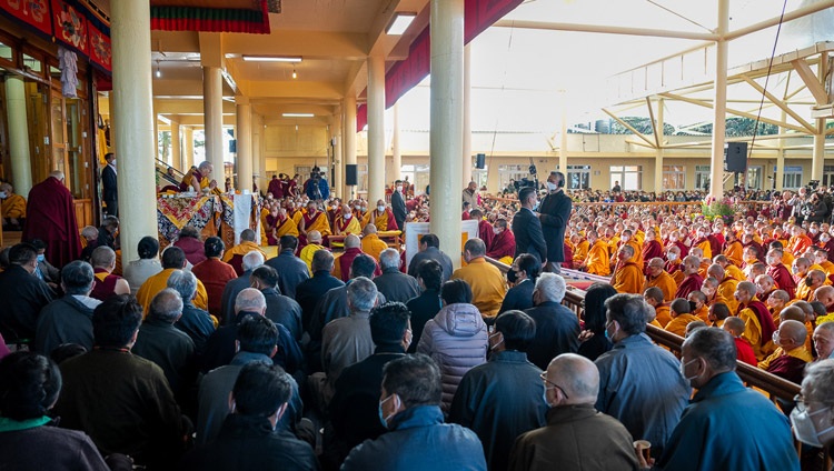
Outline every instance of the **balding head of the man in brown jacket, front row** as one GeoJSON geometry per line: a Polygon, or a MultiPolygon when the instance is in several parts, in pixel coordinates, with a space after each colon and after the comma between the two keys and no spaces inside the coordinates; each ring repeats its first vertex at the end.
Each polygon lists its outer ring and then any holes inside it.
{"type": "MultiPolygon", "coordinates": [[[[564,390],[564,404],[593,404],[599,392],[599,370],[594,362],[574,353],[563,353],[547,365],[547,380],[564,390]]],[[[545,384],[550,388],[553,384],[545,384]]],[[[555,391],[548,390],[548,402],[554,403],[555,391]]]]}

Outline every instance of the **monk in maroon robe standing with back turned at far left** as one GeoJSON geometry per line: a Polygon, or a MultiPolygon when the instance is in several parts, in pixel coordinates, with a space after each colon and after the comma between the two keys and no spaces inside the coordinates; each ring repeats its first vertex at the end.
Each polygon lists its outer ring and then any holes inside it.
{"type": "Polygon", "coordinates": [[[63,172],[53,171],[32,187],[26,206],[22,240],[40,239],[47,244],[47,260],[54,267],[77,260],[81,237],[76,222],[72,193],[63,186],[63,172]]]}

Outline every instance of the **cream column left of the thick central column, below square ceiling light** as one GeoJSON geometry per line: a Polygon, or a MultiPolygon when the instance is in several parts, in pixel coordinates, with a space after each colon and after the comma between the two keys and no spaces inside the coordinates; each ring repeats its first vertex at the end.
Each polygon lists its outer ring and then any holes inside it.
{"type": "Polygon", "coordinates": [[[385,200],[385,58],[368,58],[368,201],[385,200]]]}

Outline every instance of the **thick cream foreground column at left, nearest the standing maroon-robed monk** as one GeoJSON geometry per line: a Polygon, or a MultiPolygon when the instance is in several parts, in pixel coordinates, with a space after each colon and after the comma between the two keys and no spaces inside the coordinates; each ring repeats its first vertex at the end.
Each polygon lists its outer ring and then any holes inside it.
{"type": "Polygon", "coordinates": [[[113,91],[119,97],[112,131],[119,143],[121,262],[127,267],[139,258],[139,240],[158,234],[149,0],[112,2],[110,13],[113,91]]]}

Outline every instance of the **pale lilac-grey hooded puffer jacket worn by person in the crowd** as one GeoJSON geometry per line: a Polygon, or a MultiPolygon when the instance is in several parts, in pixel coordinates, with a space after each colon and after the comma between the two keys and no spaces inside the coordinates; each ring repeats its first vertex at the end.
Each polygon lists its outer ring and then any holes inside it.
{"type": "Polygon", "coordinates": [[[451,404],[464,374],[486,362],[487,349],[487,328],[473,304],[448,304],[426,322],[417,352],[431,357],[440,367],[444,410],[451,404]]]}

